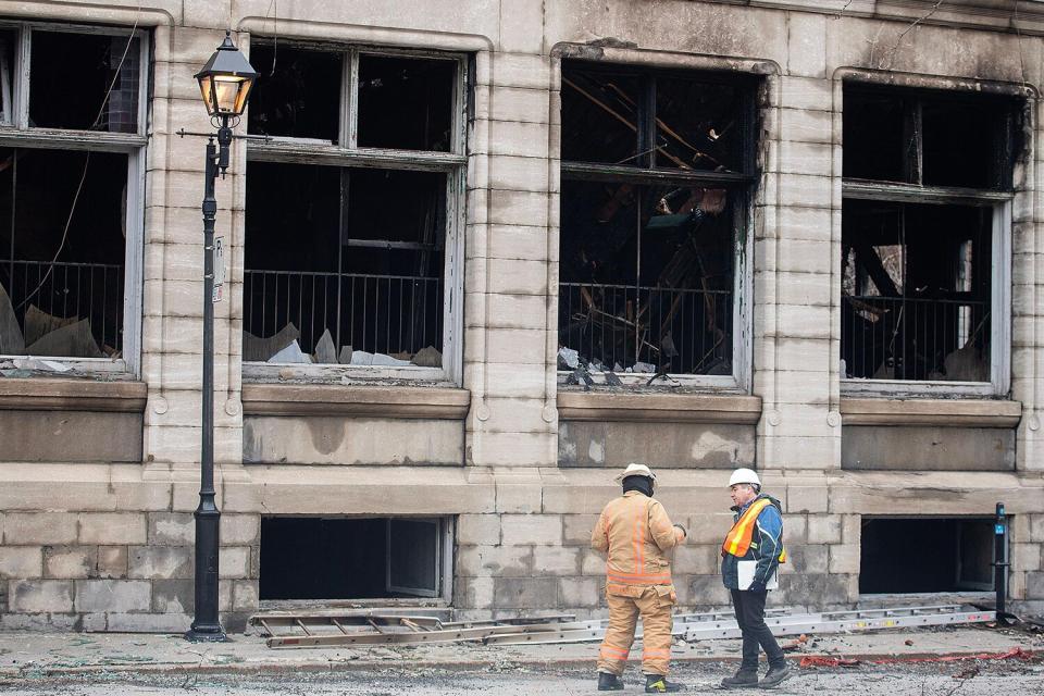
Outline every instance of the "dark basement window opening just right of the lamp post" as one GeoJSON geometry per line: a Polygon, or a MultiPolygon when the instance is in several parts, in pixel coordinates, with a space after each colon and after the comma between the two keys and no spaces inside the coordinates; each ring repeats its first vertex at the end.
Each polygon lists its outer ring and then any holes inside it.
{"type": "Polygon", "coordinates": [[[263,518],[260,598],[445,597],[450,530],[447,518],[263,518]]]}

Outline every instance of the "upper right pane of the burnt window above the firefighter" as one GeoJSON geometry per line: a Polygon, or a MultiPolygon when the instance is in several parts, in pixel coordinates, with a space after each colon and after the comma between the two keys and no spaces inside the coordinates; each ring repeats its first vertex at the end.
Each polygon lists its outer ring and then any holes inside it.
{"type": "Polygon", "coordinates": [[[732,85],[679,77],[656,80],[656,165],[743,172],[746,110],[732,85]]]}

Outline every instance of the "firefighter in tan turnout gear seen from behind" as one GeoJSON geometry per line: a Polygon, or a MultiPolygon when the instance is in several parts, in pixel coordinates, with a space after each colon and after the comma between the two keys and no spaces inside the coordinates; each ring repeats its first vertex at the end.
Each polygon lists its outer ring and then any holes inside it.
{"type": "Polygon", "coordinates": [[[623,688],[620,676],[642,617],[642,671],[647,694],[682,691],[667,681],[671,659],[671,611],[676,601],[667,552],[685,540],[685,529],[671,524],[652,498],[656,475],[645,464],[627,464],[617,476],[623,495],[610,500],[591,535],[591,546],[606,559],[609,626],[598,651],[598,691],[623,688]]]}

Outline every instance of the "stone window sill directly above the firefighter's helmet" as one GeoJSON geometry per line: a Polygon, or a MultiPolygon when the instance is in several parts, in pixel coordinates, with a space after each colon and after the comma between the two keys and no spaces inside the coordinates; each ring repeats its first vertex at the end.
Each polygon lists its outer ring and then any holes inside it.
{"type": "Polygon", "coordinates": [[[719,394],[559,391],[558,415],[563,421],[755,425],[761,418],[761,397],[719,394]]]}

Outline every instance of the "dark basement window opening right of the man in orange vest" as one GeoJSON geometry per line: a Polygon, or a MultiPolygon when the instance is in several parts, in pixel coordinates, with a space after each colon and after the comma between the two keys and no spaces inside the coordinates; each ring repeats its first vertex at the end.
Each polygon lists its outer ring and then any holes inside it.
{"type": "Polygon", "coordinates": [[[863,518],[860,594],[993,589],[992,518],[863,518]]]}

